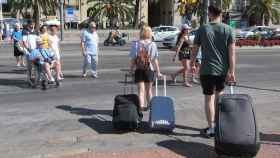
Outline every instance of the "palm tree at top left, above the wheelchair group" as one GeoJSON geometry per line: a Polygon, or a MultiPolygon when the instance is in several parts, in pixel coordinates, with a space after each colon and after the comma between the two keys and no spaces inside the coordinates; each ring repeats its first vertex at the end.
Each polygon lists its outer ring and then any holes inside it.
{"type": "Polygon", "coordinates": [[[18,12],[25,17],[29,10],[31,16],[35,19],[36,29],[40,26],[40,15],[55,15],[58,1],[57,0],[9,0],[12,12],[18,12]],[[42,11],[42,12],[41,12],[42,11]]]}

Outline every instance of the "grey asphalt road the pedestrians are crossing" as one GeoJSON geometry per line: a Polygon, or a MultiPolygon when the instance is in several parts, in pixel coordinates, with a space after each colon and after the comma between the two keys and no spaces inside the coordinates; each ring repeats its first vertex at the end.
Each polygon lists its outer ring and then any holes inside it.
{"type": "MultiPolygon", "coordinates": [[[[172,52],[160,48],[160,65],[169,74],[179,67],[172,52]]],[[[161,142],[183,140],[213,146],[199,130],[206,126],[203,96],[199,85],[186,88],[170,84],[167,94],[176,107],[174,134],[164,135],[143,128],[114,133],[111,110],[114,96],[123,93],[122,81],[128,66],[129,47],[101,47],[99,78],[82,79],[79,45],[64,44],[65,80],[61,87],[32,89],[24,69],[15,67],[10,46],[0,48],[0,154],[1,158],[35,158],[75,151],[118,151],[161,146],[161,142]]],[[[237,93],[250,94],[255,102],[261,132],[280,133],[279,48],[237,50],[237,93]]],[[[136,87],[134,87],[136,92],[136,87]]],[[[144,120],[148,120],[145,113],[144,120]]],[[[199,147],[197,147],[199,148],[199,147]]],[[[199,156],[198,156],[199,157],[199,156]]]]}

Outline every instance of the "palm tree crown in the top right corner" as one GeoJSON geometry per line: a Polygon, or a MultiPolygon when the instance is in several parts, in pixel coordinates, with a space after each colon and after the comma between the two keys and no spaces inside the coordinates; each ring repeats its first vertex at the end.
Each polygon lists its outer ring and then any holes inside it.
{"type": "Polygon", "coordinates": [[[280,7],[273,5],[280,0],[251,0],[250,6],[245,12],[247,17],[254,17],[260,25],[269,25],[270,21],[279,22],[280,7]]]}

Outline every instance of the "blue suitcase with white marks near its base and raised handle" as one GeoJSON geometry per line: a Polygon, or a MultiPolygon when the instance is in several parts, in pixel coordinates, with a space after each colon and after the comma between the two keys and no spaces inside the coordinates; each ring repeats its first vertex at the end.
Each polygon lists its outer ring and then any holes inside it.
{"type": "Polygon", "coordinates": [[[158,96],[156,79],[156,96],[150,102],[150,128],[154,131],[172,132],[175,128],[175,111],[173,100],[166,96],[166,76],[164,76],[164,96],[158,96]]]}

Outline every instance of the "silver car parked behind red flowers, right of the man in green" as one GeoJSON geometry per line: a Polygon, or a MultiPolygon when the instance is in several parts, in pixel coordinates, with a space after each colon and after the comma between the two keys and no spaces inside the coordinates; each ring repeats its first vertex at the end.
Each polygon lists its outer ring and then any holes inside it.
{"type": "Polygon", "coordinates": [[[254,26],[240,30],[237,32],[237,38],[254,38],[257,34],[260,34],[261,37],[267,38],[271,33],[271,28],[267,26],[254,26]]]}

